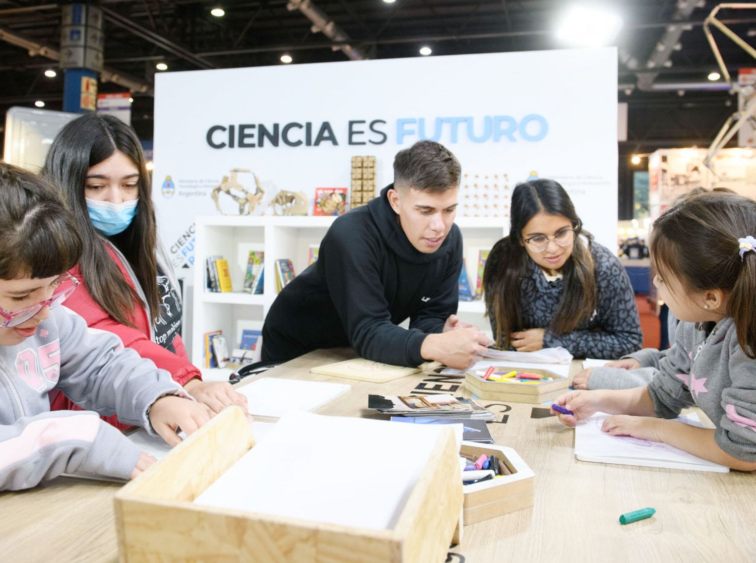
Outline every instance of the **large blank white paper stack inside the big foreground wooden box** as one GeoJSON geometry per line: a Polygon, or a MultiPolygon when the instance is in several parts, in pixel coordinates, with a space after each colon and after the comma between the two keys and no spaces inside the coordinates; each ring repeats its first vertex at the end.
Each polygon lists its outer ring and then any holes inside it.
{"type": "Polygon", "coordinates": [[[450,426],[289,413],[194,502],[385,530],[450,426]]]}

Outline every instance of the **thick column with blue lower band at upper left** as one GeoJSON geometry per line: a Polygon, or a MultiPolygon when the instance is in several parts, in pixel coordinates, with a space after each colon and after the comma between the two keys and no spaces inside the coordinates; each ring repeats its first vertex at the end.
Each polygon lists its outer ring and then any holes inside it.
{"type": "Polygon", "coordinates": [[[98,72],[102,70],[102,12],[87,4],[64,5],[60,25],[60,68],[64,70],[63,110],[97,110],[98,72]]]}

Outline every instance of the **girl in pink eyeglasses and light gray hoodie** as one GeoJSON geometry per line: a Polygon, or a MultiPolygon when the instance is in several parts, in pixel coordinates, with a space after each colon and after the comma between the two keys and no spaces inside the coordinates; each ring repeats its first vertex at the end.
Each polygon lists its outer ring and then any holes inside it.
{"type": "Polygon", "coordinates": [[[0,490],[61,473],[134,478],[154,461],[100,415],[117,414],[178,444],[209,410],[111,333],[60,305],[82,240],[59,193],[0,162],[0,490]],[[63,391],[86,410],[50,411],[63,391]],[[95,412],[91,412],[95,411],[95,412]]]}

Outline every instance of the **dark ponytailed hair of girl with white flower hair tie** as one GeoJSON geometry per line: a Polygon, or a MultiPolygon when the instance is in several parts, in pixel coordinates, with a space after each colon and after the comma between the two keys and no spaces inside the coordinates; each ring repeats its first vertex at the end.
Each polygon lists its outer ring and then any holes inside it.
{"type": "Polygon", "coordinates": [[[674,277],[684,292],[730,293],[727,315],[738,343],[756,359],[756,252],[740,258],[739,239],[756,237],[756,202],[717,190],[683,199],[654,221],[651,261],[662,280],[674,277]]]}

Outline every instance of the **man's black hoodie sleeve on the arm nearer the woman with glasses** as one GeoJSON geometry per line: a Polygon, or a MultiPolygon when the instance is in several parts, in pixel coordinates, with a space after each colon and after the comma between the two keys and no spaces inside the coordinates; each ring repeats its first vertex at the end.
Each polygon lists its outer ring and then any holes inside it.
{"type": "Polygon", "coordinates": [[[423,311],[413,315],[410,320],[411,329],[420,329],[423,333],[440,333],[449,315],[457,313],[460,304],[460,273],[462,272],[462,235],[459,227],[452,227],[449,237],[454,248],[449,249],[448,263],[444,277],[438,280],[438,292],[423,311]]]}

